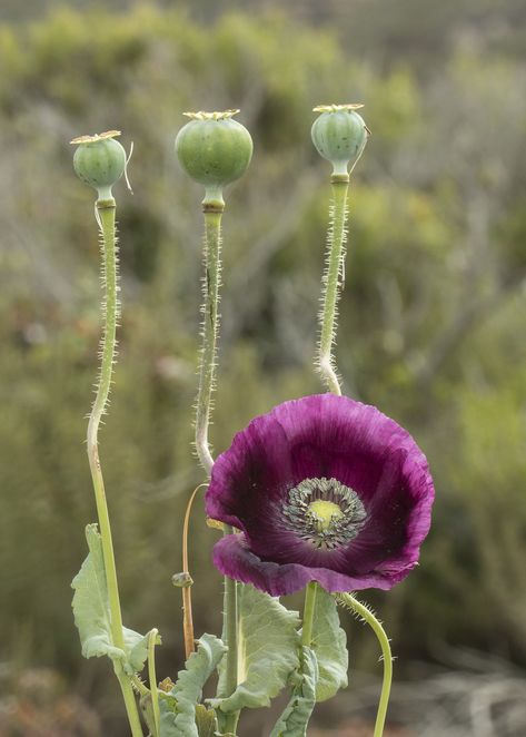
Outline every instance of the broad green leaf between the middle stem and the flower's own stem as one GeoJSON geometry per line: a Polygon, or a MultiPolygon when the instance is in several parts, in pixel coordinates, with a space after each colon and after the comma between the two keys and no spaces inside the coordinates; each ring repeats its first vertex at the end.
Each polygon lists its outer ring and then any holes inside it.
{"type": "MultiPolygon", "coordinates": [[[[231,696],[210,699],[211,706],[224,713],[269,706],[298,668],[298,613],[286,609],[279,599],[252,586],[240,587],[239,685],[231,696]]],[[[220,667],[219,694],[224,687],[225,661],[220,667]]]]}

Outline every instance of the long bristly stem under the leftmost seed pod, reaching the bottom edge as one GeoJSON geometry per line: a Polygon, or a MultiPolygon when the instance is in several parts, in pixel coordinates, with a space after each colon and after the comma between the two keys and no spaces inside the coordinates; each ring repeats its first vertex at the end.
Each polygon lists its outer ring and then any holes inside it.
{"type": "MultiPolygon", "coordinates": [[[[122,615],[120,611],[119,587],[117,582],[117,570],[111,538],[111,527],[106,501],[105,482],[99,460],[98,432],[100,420],[106,412],[108,395],[111,386],[113,363],[116,360],[116,332],[119,316],[118,273],[117,273],[117,238],[116,238],[116,205],[115,199],[99,199],[97,202],[97,220],[101,230],[102,250],[102,278],[105,284],[105,330],[101,344],[100,376],[97,395],[91,409],[88,423],[88,458],[93,482],[97,513],[99,518],[100,537],[102,540],[102,552],[105,559],[106,580],[108,586],[108,599],[111,615],[111,638],[113,645],[125,649],[125,636],[122,632],[122,615]]],[[[126,710],[133,737],[142,737],[137,701],[129,678],[123,672],[122,666],[116,660],[113,669],[122,690],[126,710]]]]}

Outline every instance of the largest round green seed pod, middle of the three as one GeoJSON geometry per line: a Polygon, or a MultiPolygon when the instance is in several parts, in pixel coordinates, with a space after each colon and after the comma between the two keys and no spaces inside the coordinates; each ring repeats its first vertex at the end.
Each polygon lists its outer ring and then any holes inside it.
{"type": "Polygon", "coordinates": [[[205,203],[222,202],[222,187],[242,177],[252,158],[250,134],[232,120],[237,112],[185,112],[191,120],[177,135],[176,153],[185,171],[205,185],[205,203]]]}

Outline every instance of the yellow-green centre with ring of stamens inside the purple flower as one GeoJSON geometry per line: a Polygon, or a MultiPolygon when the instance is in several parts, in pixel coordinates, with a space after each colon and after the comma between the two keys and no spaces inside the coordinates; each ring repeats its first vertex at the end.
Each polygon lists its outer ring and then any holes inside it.
{"type": "Polygon", "coordinates": [[[287,527],[315,548],[334,550],[354,540],[367,512],[354,489],[336,479],[305,479],[288,492],[287,527]]]}

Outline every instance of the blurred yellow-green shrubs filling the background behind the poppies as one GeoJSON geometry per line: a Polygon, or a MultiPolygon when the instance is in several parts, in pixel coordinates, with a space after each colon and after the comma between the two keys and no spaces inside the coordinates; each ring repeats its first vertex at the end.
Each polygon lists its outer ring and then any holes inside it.
{"type": "MultiPolygon", "coordinates": [[[[448,37],[439,65],[409,67],[399,53],[381,67],[383,51],[358,58],[324,28],[270,12],[205,26],[147,6],[0,27],[1,657],[79,682],[108,734],[107,664],[80,661],[70,611],[95,519],[82,440],[100,294],[93,195],[68,141],[120,128],[136,143],[135,195],[117,193],[123,315],[101,456],[126,621],[159,627],[158,672],[173,675],[170,576],[202,479],[190,446],[201,193],[173,154],[187,109],[240,107],[255,140],[225,216],[221,451],[255,413],[320,389],[311,357],[329,168],[310,145],[310,109],[366,104],[373,137],[354,177],[338,363],[349,394],[415,434],[437,485],[420,568],[371,598],[397,654],[431,658],[448,641],[526,662],[524,67],[469,33],[448,37]]],[[[195,615],[198,632],[217,632],[217,533],[200,509],[195,615]]]]}

